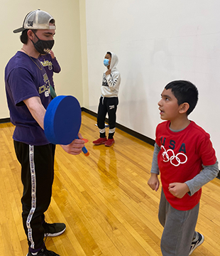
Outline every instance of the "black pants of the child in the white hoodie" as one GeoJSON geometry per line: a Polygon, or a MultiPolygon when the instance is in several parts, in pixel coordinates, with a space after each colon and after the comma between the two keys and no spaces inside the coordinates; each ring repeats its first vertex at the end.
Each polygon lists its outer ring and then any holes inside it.
{"type": "Polygon", "coordinates": [[[106,137],[104,122],[107,113],[109,115],[109,139],[112,139],[114,136],[117,105],[119,105],[118,97],[100,97],[97,125],[101,138],[106,137]]]}

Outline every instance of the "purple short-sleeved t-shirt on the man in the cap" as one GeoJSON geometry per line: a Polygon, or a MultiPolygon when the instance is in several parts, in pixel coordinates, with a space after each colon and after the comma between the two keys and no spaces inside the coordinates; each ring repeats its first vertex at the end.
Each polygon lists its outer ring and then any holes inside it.
{"type": "Polygon", "coordinates": [[[16,126],[13,139],[35,146],[49,144],[43,129],[23,102],[30,97],[40,97],[47,109],[51,101],[50,81],[39,60],[31,60],[26,53],[18,51],[6,65],[5,83],[11,122],[16,126]]]}

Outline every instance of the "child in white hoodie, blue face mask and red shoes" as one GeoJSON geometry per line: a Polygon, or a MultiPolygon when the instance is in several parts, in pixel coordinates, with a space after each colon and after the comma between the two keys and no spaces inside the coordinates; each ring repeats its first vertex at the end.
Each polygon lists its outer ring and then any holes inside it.
{"type": "Polygon", "coordinates": [[[104,65],[106,70],[103,74],[101,85],[101,97],[99,100],[99,109],[97,116],[97,125],[99,127],[99,139],[93,144],[111,146],[114,144],[114,132],[116,129],[116,110],[119,105],[119,85],[121,83],[121,75],[116,65],[119,58],[112,52],[107,52],[104,57],[104,65]],[[109,138],[106,139],[105,118],[109,115],[109,138]]]}

